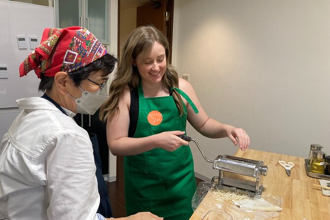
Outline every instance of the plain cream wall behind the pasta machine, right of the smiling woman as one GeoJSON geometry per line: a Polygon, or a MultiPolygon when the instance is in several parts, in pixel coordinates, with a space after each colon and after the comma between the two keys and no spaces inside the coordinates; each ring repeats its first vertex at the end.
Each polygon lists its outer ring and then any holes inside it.
{"type": "MultiPolygon", "coordinates": [[[[330,154],[329,0],[176,0],[173,58],[209,116],[244,128],[251,148],[330,154]]],[[[208,159],[229,139],[193,137],[208,159]]],[[[195,171],[218,175],[192,143],[195,171]]],[[[262,158],[260,158],[262,160],[262,158]]]]}

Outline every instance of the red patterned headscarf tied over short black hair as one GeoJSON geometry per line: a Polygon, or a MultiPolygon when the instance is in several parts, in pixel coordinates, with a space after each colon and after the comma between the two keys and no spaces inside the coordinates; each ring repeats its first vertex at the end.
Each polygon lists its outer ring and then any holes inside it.
{"type": "Polygon", "coordinates": [[[20,77],[34,70],[38,78],[57,72],[72,72],[106,55],[104,45],[87,29],[69,27],[46,28],[41,44],[19,67],[20,77]]]}

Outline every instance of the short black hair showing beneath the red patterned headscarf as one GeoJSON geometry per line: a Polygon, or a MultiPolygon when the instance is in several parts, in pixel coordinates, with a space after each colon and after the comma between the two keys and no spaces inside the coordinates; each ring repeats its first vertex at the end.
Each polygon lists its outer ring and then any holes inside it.
{"type": "MultiPolygon", "coordinates": [[[[90,74],[95,73],[99,70],[104,71],[104,75],[109,75],[110,73],[112,73],[116,62],[117,58],[110,54],[106,54],[100,59],[97,59],[96,61],[88,64],[87,66],[68,73],[68,75],[73,80],[75,86],[78,86],[80,85],[80,82],[82,80],[88,78],[90,74]]],[[[45,92],[46,90],[52,89],[54,83],[53,76],[45,76],[41,73],[40,79],[41,81],[39,83],[38,88],[39,91],[45,92]]]]}

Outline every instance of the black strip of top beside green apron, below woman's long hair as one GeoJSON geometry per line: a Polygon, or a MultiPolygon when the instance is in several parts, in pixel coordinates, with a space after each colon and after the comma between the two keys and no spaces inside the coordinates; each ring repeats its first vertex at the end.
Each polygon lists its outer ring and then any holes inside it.
{"type": "Polygon", "coordinates": [[[136,131],[136,126],[138,125],[138,118],[139,118],[138,87],[132,89],[130,93],[131,93],[131,106],[129,109],[130,124],[128,128],[128,137],[133,138],[136,131]]]}

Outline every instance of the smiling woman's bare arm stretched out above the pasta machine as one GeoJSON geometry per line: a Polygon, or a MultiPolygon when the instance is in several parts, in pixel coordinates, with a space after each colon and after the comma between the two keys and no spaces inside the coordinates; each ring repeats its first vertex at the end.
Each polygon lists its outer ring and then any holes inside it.
{"type": "Polygon", "coordinates": [[[250,137],[242,128],[236,128],[234,126],[223,124],[217,120],[209,118],[201,106],[196,92],[191,84],[188,81],[179,78],[179,85],[180,89],[189,96],[199,111],[199,113],[195,114],[191,106],[186,102],[186,100],[184,100],[188,111],[187,119],[189,123],[194,127],[194,129],[196,129],[196,131],[208,138],[228,137],[235,146],[239,144],[239,147],[242,150],[249,148],[250,137]]]}

